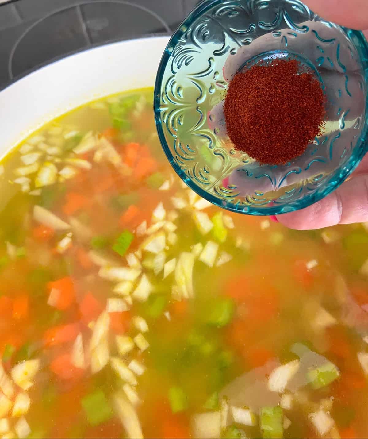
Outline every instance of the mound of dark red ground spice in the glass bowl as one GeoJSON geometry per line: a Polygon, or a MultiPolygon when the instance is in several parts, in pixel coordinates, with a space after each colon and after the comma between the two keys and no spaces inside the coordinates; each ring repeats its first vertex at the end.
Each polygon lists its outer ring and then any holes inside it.
{"type": "Polygon", "coordinates": [[[229,84],[224,112],[230,140],[262,164],[281,165],[303,154],[324,129],[325,97],[296,60],[258,63],[229,84]]]}

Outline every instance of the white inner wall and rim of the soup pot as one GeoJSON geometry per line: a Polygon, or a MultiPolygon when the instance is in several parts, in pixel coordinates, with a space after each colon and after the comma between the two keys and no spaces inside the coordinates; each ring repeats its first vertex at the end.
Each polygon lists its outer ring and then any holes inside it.
{"type": "Polygon", "coordinates": [[[30,132],[99,97],[154,80],[168,37],[95,47],[46,65],[0,92],[0,158],[30,132]]]}

